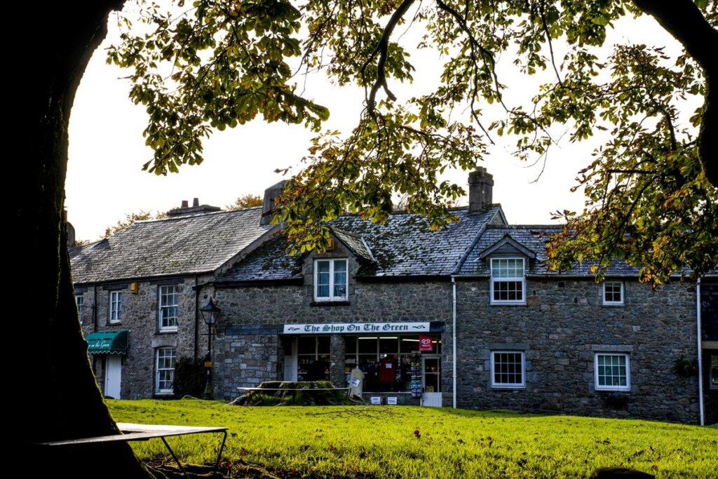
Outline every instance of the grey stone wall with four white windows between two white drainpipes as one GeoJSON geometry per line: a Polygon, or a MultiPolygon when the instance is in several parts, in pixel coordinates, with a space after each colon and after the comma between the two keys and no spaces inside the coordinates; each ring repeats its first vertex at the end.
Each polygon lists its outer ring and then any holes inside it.
{"type": "Polygon", "coordinates": [[[602,305],[591,279],[527,279],[527,304],[490,304],[489,282],[458,282],[458,406],[696,422],[696,290],[625,281],[625,305],[602,305]],[[526,387],[491,386],[490,351],[522,350],[526,387]],[[597,352],[630,354],[630,391],[595,390],[597,352]],[[625,403],[625,404],[621,404],[625,403]]]}

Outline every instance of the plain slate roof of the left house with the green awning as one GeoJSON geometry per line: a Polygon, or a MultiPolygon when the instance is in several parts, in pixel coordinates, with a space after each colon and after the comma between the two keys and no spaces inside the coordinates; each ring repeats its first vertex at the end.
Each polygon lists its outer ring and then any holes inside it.
{"type": "Polygon", "coordinates": [[[273,228],[261,208],[141,221],[98,243],[73,248],[75,283],[215,271],[273,228]]]}

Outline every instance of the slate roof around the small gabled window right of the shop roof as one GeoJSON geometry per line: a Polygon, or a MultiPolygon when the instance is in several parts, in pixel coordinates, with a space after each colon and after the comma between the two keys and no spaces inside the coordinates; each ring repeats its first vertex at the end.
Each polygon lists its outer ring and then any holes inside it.
{"type": "MultiPolygon", "coordinates": [[[[536,253],[536,261],[529,261],[526,274],[557,276],[571,274],[593,276],[590,271],[591,264],[577,264],[569,271],[551,271],[546,266],[546,243],[554,233],[561,231],[560,225],[488,225],[479,241],[472,248],[469,256],[462,265],[459,274],[489,276],[491,271],[486,259],[480,259],[480,254],[486,248],[501,241],[507,234],[526,248],[536,253]]],[[[639,269],[625,264],[625,261],[614,260],[606,271],[607,276],[638,276],[639,269]]]]}

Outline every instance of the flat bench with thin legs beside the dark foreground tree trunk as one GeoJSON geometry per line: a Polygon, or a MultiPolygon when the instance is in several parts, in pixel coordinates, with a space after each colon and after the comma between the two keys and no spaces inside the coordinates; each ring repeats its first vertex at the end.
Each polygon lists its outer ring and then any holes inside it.
{"type": "Polygon", "coordinates": [[[186,436],[187,434],[222,432],[224,436],[222,438],[222,445],[220,445],[220,449],[217,452],[217,459],[215,460],[215,473],[217,472],[220,465],[220,459],[222,458],[222,452],[224,450],[225,442],[227,442],[226,427],[170,426],[166,424],[132,424],[129,422],[118,422],[117,427],[120,429],[122,434],[112,434],[110,436],[81,437],[79,439],[70,439],[64,441],[39,442],[38,445],[73,446],[82,444],[101,444],[103,442],[116,441],[146,441],[159,437],[159,439],[164,442],[164,446],[167,447],[169,454],[172,455],[172,459],[174,459],[174,462],[177,462],[177,467],[180,468],[182,474],[187,476],[185,468],[182,467],[182,464],[177,458],[177,455],[174,454],[172,447],[169,447],[169,444],[167,443],[165,437],[186,436]]]}

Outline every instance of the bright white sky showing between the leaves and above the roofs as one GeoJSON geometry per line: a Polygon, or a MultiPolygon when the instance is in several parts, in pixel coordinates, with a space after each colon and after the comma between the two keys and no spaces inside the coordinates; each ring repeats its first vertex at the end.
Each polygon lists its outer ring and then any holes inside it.
{"type": "MultiPolygon", "coordinates": [[[[70,118],[65,205],[78,238],[98,238],[126,213],[166,211],[178,207],[182,200],[190,200],[191,204],[194,197],[202,204],[224,207],[240,195],[263,195],[266,187],[283,179],[274,169],[294,167],[296,171],[299,167],[312,132],[299,125],[254,121],[215,132],[205,140],[205,162],[199,166],[185,165],[179,174],[166,177],[142,172],[142,164],[151,158],[142,137],[146,115],[142,106],[135,106],[127,98],[129,83],[119,79],[127,71],[105,63],[106,47],[118,42],[112,16],[109,29],[107,39],[85,71],[70,118]]],[[[676,45],[648,18],[626,20],[615,33],[618,36],[613,42],[630,34],[633,42],[676,45]]],[[[561,57],[559,53],[557,58],[561,57]]],[[[439,73],[439,68],[434,67],[437,61],[432,52],[414,55],[414,78],[421,81],[411,86],[391,84],[399,101],[432,83],[432,75],[439,73]]],[[[307,92],[317,103],[330,108],[327,129],[352,129],[362,108],[363,90],[336,88],[317,77],[307,80],[307,92]]],[[[554,147],[544,174],[532,183],[541,164],[529,167],[519,162],[510,156],[515,139],[499,140],[503,144],[493,148],[482,166],[494,177],[493,200],[501,203],[510,223],[544,224],[550,222],[553,211],[582,209],[582,195],[569,190],[576,184],[577,171],[589,162],[592,144],[564,141],[554,147]]],[[[467,174],[452,172],[448,176],[466,185],[467,174]]]]}

